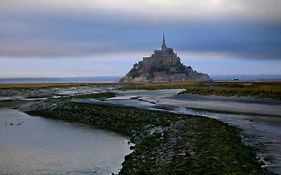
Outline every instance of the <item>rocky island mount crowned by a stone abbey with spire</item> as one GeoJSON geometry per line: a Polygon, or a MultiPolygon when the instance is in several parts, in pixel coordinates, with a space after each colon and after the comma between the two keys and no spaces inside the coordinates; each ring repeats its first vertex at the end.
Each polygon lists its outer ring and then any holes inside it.
{"type": "Polygon", "coordinates": [[[163,35],[161,50],[155,50],[150,57],[144,57],[142,61],[136,63],[120,82],[180,82],[209,79],[207,74],[198,73],[190,66],[183,65],[173,49],[166,46],[163,35]]]}

